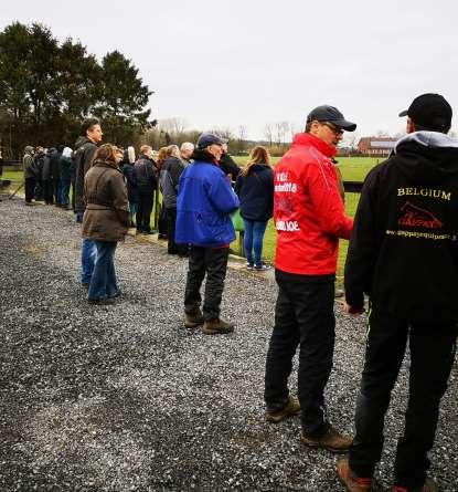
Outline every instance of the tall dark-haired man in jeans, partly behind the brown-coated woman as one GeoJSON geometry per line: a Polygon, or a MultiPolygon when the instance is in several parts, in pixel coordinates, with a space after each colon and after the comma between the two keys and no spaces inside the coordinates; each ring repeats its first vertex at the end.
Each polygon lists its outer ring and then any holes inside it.
{"type": "MultiPolygon", "coordinates": [[[[85,119],[82,124],[81,135],[76,139],[75,151],[73,153],[73,166],[75,169],[75,213],[76,222],[83,221],[84,210],[84,177],[89,170],[90,163],[102,142],[103,133],[97,118],[85,119]]],[[[88,287],[94,271],[94,262],[97,249],[90,238],[83,237],[81,250],[79,280],[84,287],[88,287]]]]}

